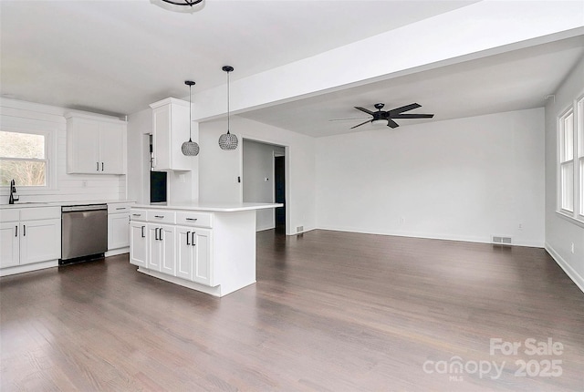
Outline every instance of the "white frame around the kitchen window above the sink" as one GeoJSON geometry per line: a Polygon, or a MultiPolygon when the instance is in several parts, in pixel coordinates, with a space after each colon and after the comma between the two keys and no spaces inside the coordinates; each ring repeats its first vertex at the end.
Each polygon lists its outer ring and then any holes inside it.
{"type": "MultiPolygon", "coordinates": [[[[19,195],[36,195],[49,193],[57,188],[57,167],[55,160],[53,159],[55,151],[57,150],[57,136],[55,131],[48,129],[37,129],[36,127],[16,127],[16,126],[6,126],[2,125],[2,129],[5,132],[16,132],[16,133],[28,133],[31,135],[42,135],[45,137],[45,160],[47,162],[45,166],[45,185],[44,186],[18,186],[16,184],[16,191],[19,195]]],[[[9,186],[0,186],[0,195],[6,196],[9,194],[9,186]]]]}

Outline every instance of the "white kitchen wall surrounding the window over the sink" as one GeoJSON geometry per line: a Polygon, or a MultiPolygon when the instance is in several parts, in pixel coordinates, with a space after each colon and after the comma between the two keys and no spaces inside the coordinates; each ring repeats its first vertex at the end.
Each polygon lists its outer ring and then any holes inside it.
{"type": "MultiPolygon", "coordinates": [[[[64,114],[70,111],[83,112],[6,98],[2,98],[0,108],[0,128],[46,130],[50,134],[52,161],[49,165],[52,174],[56,175],[53,189],[26,191],[26,188],[16,186],[21,202],[126,199],[126,176],[67,174],[67,124],[64,114]]],[[[0,196],[0,204],[7,204],[8,190],[2,190],[0,196]]]]}

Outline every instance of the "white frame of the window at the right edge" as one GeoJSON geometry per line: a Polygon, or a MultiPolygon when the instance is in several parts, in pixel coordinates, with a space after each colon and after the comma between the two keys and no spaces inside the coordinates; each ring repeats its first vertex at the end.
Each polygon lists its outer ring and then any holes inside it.
{"type": "Polygon", "coordinates": [[[571,222],[575,222],[579,226],[584,227],[584,96],[580,96],[573,101],[573,104],[564,110],[558,117],[558,206],[557,212],[560,216],[567,218],[571,222]],[[572,115],[573,129],[573,145],[572,145],[572,159],[565,160],[562,151],[565,149],[564,144],[564,126],[565,119],[572,115]],[[562,182],[562,168],[572,166],[571,176],[571,198],[572,210],[563,208],[564,206],[564,189],[562,182]]]}

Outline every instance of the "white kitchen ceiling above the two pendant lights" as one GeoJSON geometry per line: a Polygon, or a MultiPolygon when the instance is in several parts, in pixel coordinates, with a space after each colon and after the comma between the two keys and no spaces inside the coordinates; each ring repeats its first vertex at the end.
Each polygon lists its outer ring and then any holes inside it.
{"type": "MultiPolygon", "coordinates": [[[[2,0],[0,92],[64,108],[130,114],[162,98],[187,97],[185,79],[196,81],[193,93],[224,84],[224,65],[235,67],[232,80],[247,77],[471,3],[206,0],[191,15],[148,0],[2,0]]],[[[413,99],[405,92],[392,98],[371,94],[347,104],[413,99]]],[[[272,113],[250,116],[273,121],[272,113]]]]}

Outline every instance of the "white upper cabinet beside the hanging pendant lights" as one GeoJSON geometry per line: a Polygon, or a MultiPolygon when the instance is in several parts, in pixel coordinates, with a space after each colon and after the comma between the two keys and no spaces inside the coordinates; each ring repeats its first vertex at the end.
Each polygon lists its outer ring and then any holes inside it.
{"type": "MultiPolygon", "coordinates": [[[[155,102],[152,108],[152,167],[157,171],[193,170],[193,158],[183,155],[183,142],[189,140],[189,103],[176,98],[155,102]]],[[[193,123],[193,141],[199,138],[193,123]]]]}

